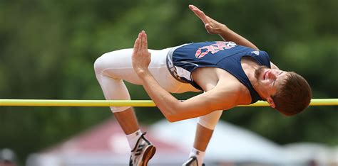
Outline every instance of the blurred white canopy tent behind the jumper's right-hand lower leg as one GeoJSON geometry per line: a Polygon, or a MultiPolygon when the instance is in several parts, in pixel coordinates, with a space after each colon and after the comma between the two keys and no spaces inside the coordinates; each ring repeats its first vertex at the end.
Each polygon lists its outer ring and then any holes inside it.
{"type": "MultiPolygon", "coordinates": [[[[150,129],[159,139],[174,141],[191,149],[193,145],[195,119],[169,123],[160,121],[150,129]]],[[[263,138],[252,131],[220,121],[208,145],[205,162],[256,162],[267,165],[287,165],[294,158],[286,158],[280,145],[263,138]]]]}

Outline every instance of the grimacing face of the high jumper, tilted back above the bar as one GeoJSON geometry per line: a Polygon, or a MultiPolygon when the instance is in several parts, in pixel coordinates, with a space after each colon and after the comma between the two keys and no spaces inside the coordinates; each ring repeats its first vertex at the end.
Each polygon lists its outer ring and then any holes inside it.
{"type": "Polygon", "coordinates": [[[277,91],[277,87],[287,79],[287,76],[288,72],[269,69],[265,66],[261,66],[255,70],[257,84],[260,85],[261,92],[265,97],[273,96],[277,91]]]}

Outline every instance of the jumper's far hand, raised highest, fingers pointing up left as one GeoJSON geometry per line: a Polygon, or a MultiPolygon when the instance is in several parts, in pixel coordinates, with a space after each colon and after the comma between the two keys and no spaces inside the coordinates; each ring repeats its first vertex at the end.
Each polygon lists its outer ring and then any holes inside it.
{"type": "Polygon", "coordinates": [[[209,16],[205,15],[205,13],[198,9],[196,6],[189,5],[189,8],[195,13],[196,16],[198,16],[198,18],[200,18],[200,20],[203,21],[205,29],[208,31],[208,33],[221,34],[222,31],[227,28],[227,26],[225,26],[224,24],[219,23],[209,16]]]}

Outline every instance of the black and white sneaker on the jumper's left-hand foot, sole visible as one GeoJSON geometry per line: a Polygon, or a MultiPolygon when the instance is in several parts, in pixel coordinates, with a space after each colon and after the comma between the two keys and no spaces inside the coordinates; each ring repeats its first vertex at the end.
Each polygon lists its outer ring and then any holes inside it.
{"type": "Polygon", "coordinates": [[[131,150],[129,166],[146,166],[155,154],[155,146],[145,139],[144,135],[145,133],[142,133],[140,138],[138,138],[135,148],[131,150]]]}

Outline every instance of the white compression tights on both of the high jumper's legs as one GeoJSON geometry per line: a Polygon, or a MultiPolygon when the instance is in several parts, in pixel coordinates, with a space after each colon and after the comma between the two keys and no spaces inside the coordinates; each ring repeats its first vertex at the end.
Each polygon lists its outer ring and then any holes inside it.
{"type": "MultiPolygon", "coordinates": [[[[156,81],[170,93],[198,92],[190,84],[178,82],[168,71],[165,60],[170,48],[163,50],[149,50],[151,53],[151,62],[149,70],[156,81]]],[[[94,63],[96,78],[98,79],[103,94],[107,100],[129,100],[130,95],[126,82],[132,84],[141,84],[138,75],[133,70],[131,55],[133,49],[116,50],[107,52],[98,57],[94,63]]],[[[130,106],[111,106],[111,111],[120,112],[130,108],[130,106]]],[[[222,111],[214,111],[208,115],[200,116],[198,123],[213,130],[219,120],[222,111]]]]}

